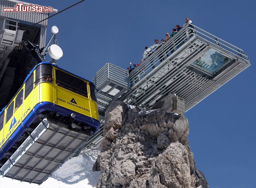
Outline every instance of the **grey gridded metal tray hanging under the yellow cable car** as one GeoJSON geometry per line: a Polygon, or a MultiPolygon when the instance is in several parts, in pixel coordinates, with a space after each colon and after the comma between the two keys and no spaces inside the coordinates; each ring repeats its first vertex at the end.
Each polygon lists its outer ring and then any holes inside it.
{"type": "Polygon", "coordinates": [[[2,176],[43,183],[72,156],[90,135],[70,130],[62,121],[46,117],[1,166],[2,176]]]}

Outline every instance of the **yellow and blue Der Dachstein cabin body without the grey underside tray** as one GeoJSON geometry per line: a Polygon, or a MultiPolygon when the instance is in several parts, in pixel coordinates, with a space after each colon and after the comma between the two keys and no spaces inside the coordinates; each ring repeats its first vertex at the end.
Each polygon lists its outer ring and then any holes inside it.
{"type": "Polygon", "coordinates": [[[0,164],[46,117],[70,131],[93,135],[100,127],[96,100],[91,81],[48,62],[37,64],[0,112],[0,164]]]}

